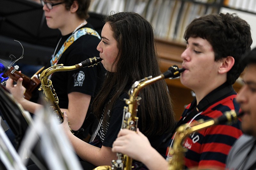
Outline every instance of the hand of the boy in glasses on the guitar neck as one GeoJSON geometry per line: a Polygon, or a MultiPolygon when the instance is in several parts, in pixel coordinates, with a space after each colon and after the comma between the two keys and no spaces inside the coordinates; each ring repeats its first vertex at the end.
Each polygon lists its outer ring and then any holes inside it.
{"type": "Polygon", "coordinates": [[[19,78],[16,85],[13,84],[14,81],[12,80],[12,78],[9,78],[6,81],[6,88],[12,93],[13,98],[19,103],[21,103],[23,100],[26,100],[23,97],[26,89],[22,86],[22,81],[23,79],[19,78]]]}

